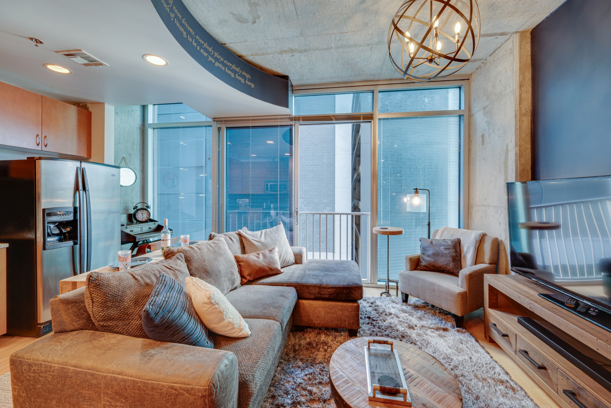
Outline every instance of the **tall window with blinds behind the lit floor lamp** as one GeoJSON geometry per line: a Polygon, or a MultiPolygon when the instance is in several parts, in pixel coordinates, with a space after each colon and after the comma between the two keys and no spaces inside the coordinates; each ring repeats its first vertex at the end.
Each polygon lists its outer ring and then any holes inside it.
{"type": "MultiPolygon", "coordinates": [[[[403,235],[390,237],[391,279],[404,269],[406,255],[419,253],[429,216],[431,234],[442,226],[461,226],[460,91],[437,87],[378,94],[378,225],[403,228],[403,235]],[[425,203],[422,211],[408,206],[414,188],[422,189],[415,198],[425,203]]],[[[386,254],[387,237],[379,236],[378,281],[386,280],[386,254]]]]}

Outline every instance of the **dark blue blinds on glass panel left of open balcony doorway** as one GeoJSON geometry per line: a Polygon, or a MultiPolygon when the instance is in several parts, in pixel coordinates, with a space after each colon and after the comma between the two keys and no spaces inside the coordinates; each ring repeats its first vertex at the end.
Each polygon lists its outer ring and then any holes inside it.
{"type": "Polygon", "coordinates": [[[226,128],[225,143],[225,231],[282,221],[292,243],[293,128],[226,128]]]}

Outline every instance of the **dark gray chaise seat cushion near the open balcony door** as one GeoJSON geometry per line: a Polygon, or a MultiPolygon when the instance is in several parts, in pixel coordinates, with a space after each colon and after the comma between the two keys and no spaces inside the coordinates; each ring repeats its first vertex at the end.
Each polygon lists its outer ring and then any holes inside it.
{"type": "Polygon", "coordinates": [[[363,299],[363,282],[354,261],[309,259],[305,264],[282,268],[280,275],[267,276],[246,286],[253,284],[295,287],[299,299],[363,299]]]}

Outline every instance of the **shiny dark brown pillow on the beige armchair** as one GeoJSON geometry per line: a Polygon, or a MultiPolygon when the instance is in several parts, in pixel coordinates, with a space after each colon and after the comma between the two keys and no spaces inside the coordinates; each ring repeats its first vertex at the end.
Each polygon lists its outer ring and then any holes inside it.
{"type": "Polygon", "coordinates": [[[461,269],[460,239],[420,238],[420,261],[416,270],[447,272],[458,276],[461,269]]]}

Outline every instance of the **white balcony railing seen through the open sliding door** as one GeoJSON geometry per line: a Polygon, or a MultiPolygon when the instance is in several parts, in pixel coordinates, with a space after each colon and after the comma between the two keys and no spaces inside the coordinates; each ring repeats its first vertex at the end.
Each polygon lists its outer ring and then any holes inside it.
{"type": "Polygon", "coordinates": [[[368,278],[370,213],[298,212],[295,245],[305,247],[307,259],[348,259],[368,278]]]}

